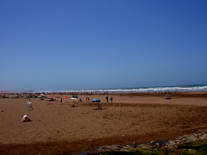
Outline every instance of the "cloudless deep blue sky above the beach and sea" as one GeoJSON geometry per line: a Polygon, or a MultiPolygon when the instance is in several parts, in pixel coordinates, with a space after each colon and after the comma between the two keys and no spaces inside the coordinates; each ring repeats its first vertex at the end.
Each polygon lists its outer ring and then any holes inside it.
{"type": "Polygon", "coordinates": [[[206,0],[0,0],[0,90],[207,84],[206,0]]]}

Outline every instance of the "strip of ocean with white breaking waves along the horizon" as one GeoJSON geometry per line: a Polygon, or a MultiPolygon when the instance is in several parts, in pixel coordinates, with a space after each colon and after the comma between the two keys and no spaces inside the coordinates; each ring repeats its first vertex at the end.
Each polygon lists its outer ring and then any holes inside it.
{"type": "Polygon", "coordinates": [[[147,93],[147,92],[206,92],[207,84],[184,86],[157,86],[157,87],[131,87],[131,88],[106,88],[106,89],[69,89],[69,90],[42,90],[38,92],[96,92],[96,93],[147,93]]]}

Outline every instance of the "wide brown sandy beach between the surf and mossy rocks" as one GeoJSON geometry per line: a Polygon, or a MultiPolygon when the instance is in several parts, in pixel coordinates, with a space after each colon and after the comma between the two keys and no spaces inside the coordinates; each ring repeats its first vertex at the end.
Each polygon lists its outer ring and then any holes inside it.
{"type": "Polygon", "coordinates": [[[83,102],[77,103],[64,96],[53,95],[56,101],[31,98],[33,111],[27,109],[28,98],[0,98],[0,154],[79,154],[103,145],[166,141],[207,131],[203,92],[78,95],[83,102]],[[102,110],[94,110],[92,99],[101,100],[102,110]],[[21,123],[26,113],[33,121],[21,123]]]}

